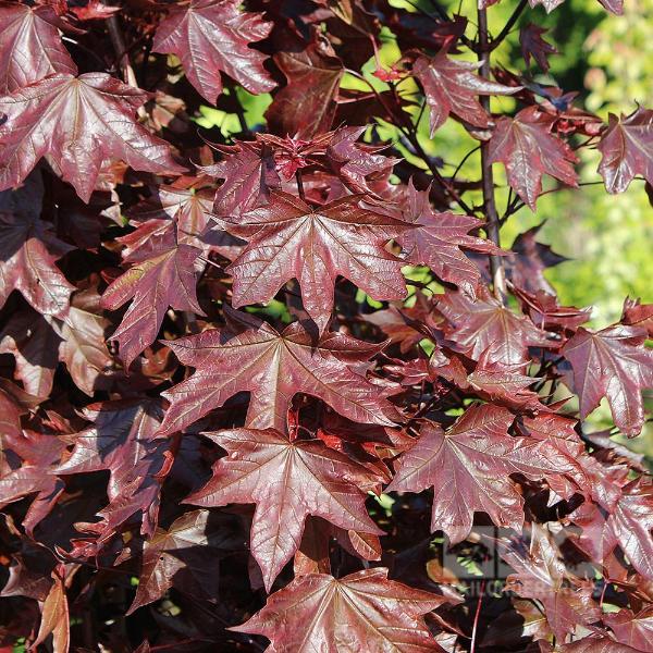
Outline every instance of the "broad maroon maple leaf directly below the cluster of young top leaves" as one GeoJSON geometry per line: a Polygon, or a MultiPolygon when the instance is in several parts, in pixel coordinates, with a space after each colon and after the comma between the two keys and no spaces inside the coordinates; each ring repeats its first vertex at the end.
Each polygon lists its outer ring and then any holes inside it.
{"type": "Polygon", "coordinates": [[[294,278],[308,315],[323,329],[338,274],[373,299],[406,296],[404,261],[384,245],[410,225],[361,207],[358,196],[312,208],[293,195],[274,192],[268,205],[225,222],[230,233],[247,241],[226,269],[234,278],[235,308],[269,301],[294,278]]]}

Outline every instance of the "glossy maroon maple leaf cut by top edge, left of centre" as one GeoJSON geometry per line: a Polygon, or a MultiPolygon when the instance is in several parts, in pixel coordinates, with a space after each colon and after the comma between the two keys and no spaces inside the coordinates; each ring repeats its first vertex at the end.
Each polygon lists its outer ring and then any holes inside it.
{"type": "Polygon", "coordinates": [[[190,84],[212,103],[222,93],[221,72],[254,94],[275,86],[263,67],[267,57],[249,47],[266,38],[272,24],[239,5],[239,0],[192,0],[172,7],[155,34],[153,51],[176,54],[190,84]]]}

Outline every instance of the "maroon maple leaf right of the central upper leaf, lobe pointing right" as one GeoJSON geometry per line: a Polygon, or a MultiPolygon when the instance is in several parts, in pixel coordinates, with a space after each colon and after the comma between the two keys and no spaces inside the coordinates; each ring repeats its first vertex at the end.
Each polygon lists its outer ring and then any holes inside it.
{"type": "Polygon", "coordinates": [[[490,241],[469,235],[472,229],[482,226],[480,220],[448,211],[433,211],[429,192],[417,190],[412,180],[408,183],[403,217],[417,225],[417,229],[406,232],[399,238],[406,250],[406,260],[418,266],[429,266],[442,281],[463,287],[468,293],[473,294],[481,273],[461,248],[483,254],[504,254],[490,241]]]}

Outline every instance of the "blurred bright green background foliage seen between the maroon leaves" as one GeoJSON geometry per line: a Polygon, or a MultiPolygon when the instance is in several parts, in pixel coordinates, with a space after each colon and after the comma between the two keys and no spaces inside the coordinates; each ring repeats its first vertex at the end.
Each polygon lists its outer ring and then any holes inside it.
{"type": "MultiPolygon", "coordinates": [[[[390,0],[407,11],[433,13],[434,0],[390,0]]],[[[449,15],[460,13],[469,19],[468,36],[476,32],[477,0],[439,0],[449,15]]],[[[604,121],[608,114],[632,112],[637,104],[653,108],[653,0],[625,0],[624,15],[615,16],[597,0],[565,0],[550,14],[542,7],[527,8],[517,26],[504,44],[492,53],[492,64],[508,70],[529,72],[534,82],[557,85],[564,91],[579,91],[576,106],[597,113],[604,121]],[[550,57],[551,70],[544,75],[531,63],[528,71],[519,48],[519,26],[527,23],[546,27],[545,39],[555,46],[557,54],[550,57]]],[[[491,34],[498,34],[517,7],[517,0],[502,0],[488,10],[491,34]]],[[[426,19],[428,20],[428,19],[426,19]]],[[[390,66],[399,57],[394,36],[387,29],[381,34],[380,59],[390,66]]],[[[469,53],[470,59],[475,56],[469,53]]],[[[364,67],[366,78],[379,89],[385,85],[373,77],[373,61],[364,67]]],[[[345,75],[343,86],[367,89],[352,75],[345,75]]],[[[415,93],[412,82],[403,83],[404,93],[415,93]]],[[[250,126],[261,123],[270,96],[255,98],[236,89],[246,109],[250,126]]],[[[492,98],[492,110],[510,112],[515,102],[509,97],[492,98]]],[[[207,130],[220,130],[224,137],[239,132],[235,114],[202,107],[197,123],[207,130]]],[[[382,125],[378,135],[397,145],[404,156],[420,164],[398,143],[397,130],[382,125]]],[[[428,111],[419,125],[424,150],[444,160],[443,174],[452,174],[467,152],[478,141],[455,121],[429,136],[428,111]]],[[[596,150],[583,150],[579,167],[582,183],[600,182],[596,173],[600,156],[596,150]]],[[[422,164],[423,167],[423,164],[422,164]]],[[[508,192],[502,165],[495,165],[497,206],[506,206],[508,192]]],[[[471,156],[460,172],[461,177],[479,177],[479,153],[471,156]]],[[[544,189],[556,187],[551,177],[543,178],[544,189]]],[[[473,198],[480,204],[480,197],[473,198]]],[[[527,229],[544,223],[539,239],[570,260],[546,271],[560,301],[578,307],[593,306],[590,325],[596,329],[617,321],[626,296],[653,301],[653,208],[644,184],[633,181],[621,195],[607,195],[602,184],[564,189],[544,195],[538,201],[537,213],[527,207],[513,215],[502,230],[502,245],[509,246],[527,229]]],[[[648,402],[653,407],[653,401],[648,402]]],[[[570,406],[571,407],[571,406],[570,406]]],[[[609,429],[612,420],[605,402],[594,411],[589,430],[609,429]]],[[[628,445],[653,460],[653,428],[646,424],[640,438],[628,445]]]]}

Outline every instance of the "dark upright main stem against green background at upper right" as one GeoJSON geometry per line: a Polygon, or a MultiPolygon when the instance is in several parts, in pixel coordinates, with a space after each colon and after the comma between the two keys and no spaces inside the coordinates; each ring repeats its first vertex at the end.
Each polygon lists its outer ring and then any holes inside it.
{"type": "MultiPolygon", "coordinates": [[[[481,52],[485,52],[485,57],[479,53],[479,61],[481,62],[481,75],[485,78],[490,77],[490,52],[488,50],[488,12],[484,9],[478,10],[479,16],[479,44],[481,45],[481,52]]],[[[490,97],[481,96],[481,104],[483,109],[490,114],[490,97]]],[[[483,204],[485,209],[485,217],[488,219],[486,232],[488,237],[497,246],[501,247],[501,224],[498,221],[498,213],[496,212],[496,200],[494,197],[494,175],[492,172],[492,163],[490,163],[489,152],[490,141],[483,140],[481,143],[481,170],[482,170],[482,184],[483,184],[483,204]]],[[[492,285],[494,289],[494,296],[504,301],[506,295],[506,274],[503,266],[503,259],[501,256],[495,254],[490,255],[490,273],[492,274],[492,285]]]]}

